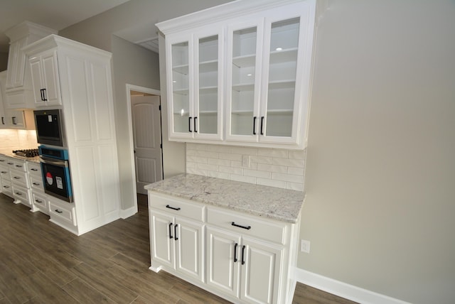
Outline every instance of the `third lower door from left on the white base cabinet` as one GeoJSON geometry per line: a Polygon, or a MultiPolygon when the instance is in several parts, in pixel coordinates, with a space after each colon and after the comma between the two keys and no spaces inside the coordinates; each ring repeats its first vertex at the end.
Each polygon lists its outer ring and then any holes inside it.
{"type": "Polygon", "coordinates": [[[238,297],[240,235],[207,227],[206,239],[207,284],[238,297]]]}

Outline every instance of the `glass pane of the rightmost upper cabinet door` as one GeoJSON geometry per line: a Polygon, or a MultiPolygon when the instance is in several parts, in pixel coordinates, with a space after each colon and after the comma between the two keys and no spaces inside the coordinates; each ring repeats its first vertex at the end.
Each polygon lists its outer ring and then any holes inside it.
{"type": "Polygon", "coordinates": [[[290,138],[294,135],[299,28],[300,18],[273,22],[269,28],[267,95],[264,97],[267,106],[265,118],[261,117],[264,136],[290,138]]]}

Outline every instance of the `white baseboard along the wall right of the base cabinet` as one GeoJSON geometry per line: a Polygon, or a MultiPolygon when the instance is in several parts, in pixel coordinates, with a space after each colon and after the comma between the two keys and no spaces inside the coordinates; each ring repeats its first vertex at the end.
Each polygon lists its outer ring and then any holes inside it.
{"type": "Polygon", "coordinates": [[[294,275],[299,283],[318,288],[333,295],[338,295],[348,300],[353,300],[362,304],[410,304],[408,302],[390,298],[387,295],[381,295],[373,291],[353,286],[341,281],[327,278],[317,273],[312,273],[301,268],[295,268],[294,275]]]}

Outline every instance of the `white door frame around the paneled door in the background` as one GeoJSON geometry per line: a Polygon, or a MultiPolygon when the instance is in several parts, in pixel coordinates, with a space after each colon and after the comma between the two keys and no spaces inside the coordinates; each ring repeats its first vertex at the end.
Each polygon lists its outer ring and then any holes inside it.
{"type": "MultiPolygon", "coordinates": [[[[134,193],[137,193],[137,188],[136,188],[136,165],[134,164],[134,136],[133,136],[133,120],[132,120],[132,112],[131,112],[131,92],[141,92],[141,93],[146,93],[146,94],[153,94],[161,97],[161,92],[159,89],[151,89],[149,87],[141,87],[139,85],[131,85],[127,83],[127,112],[128,112],[128,134],[129,134],[129,147],[131,148],[131,158],[130,158],[130,163],[132,165],[132,180],[134,180],[133,183],[133,190],[134,193]]],[[[161,114],[160,114],[161,115],[161,114]]],[[[161,138],[163,136],[163,129],[161,127],[161,138]]],[[[163,150],[161,149],[161,164],[163,163],[163,150]]],[[[164,170],[163,170],[164,172],[164,170]]],[[[134,195],[134,205],[137,207],[137,195],[134,195]]]]}

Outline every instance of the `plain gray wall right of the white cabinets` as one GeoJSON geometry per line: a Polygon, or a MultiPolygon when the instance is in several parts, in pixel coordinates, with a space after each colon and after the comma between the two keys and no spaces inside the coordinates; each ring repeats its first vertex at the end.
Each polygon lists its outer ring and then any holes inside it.
{"type": "Polygon", "coordinates": [[[318,29],[299,267],[455,300],[455,1],[330,1],[318,29]]]}

